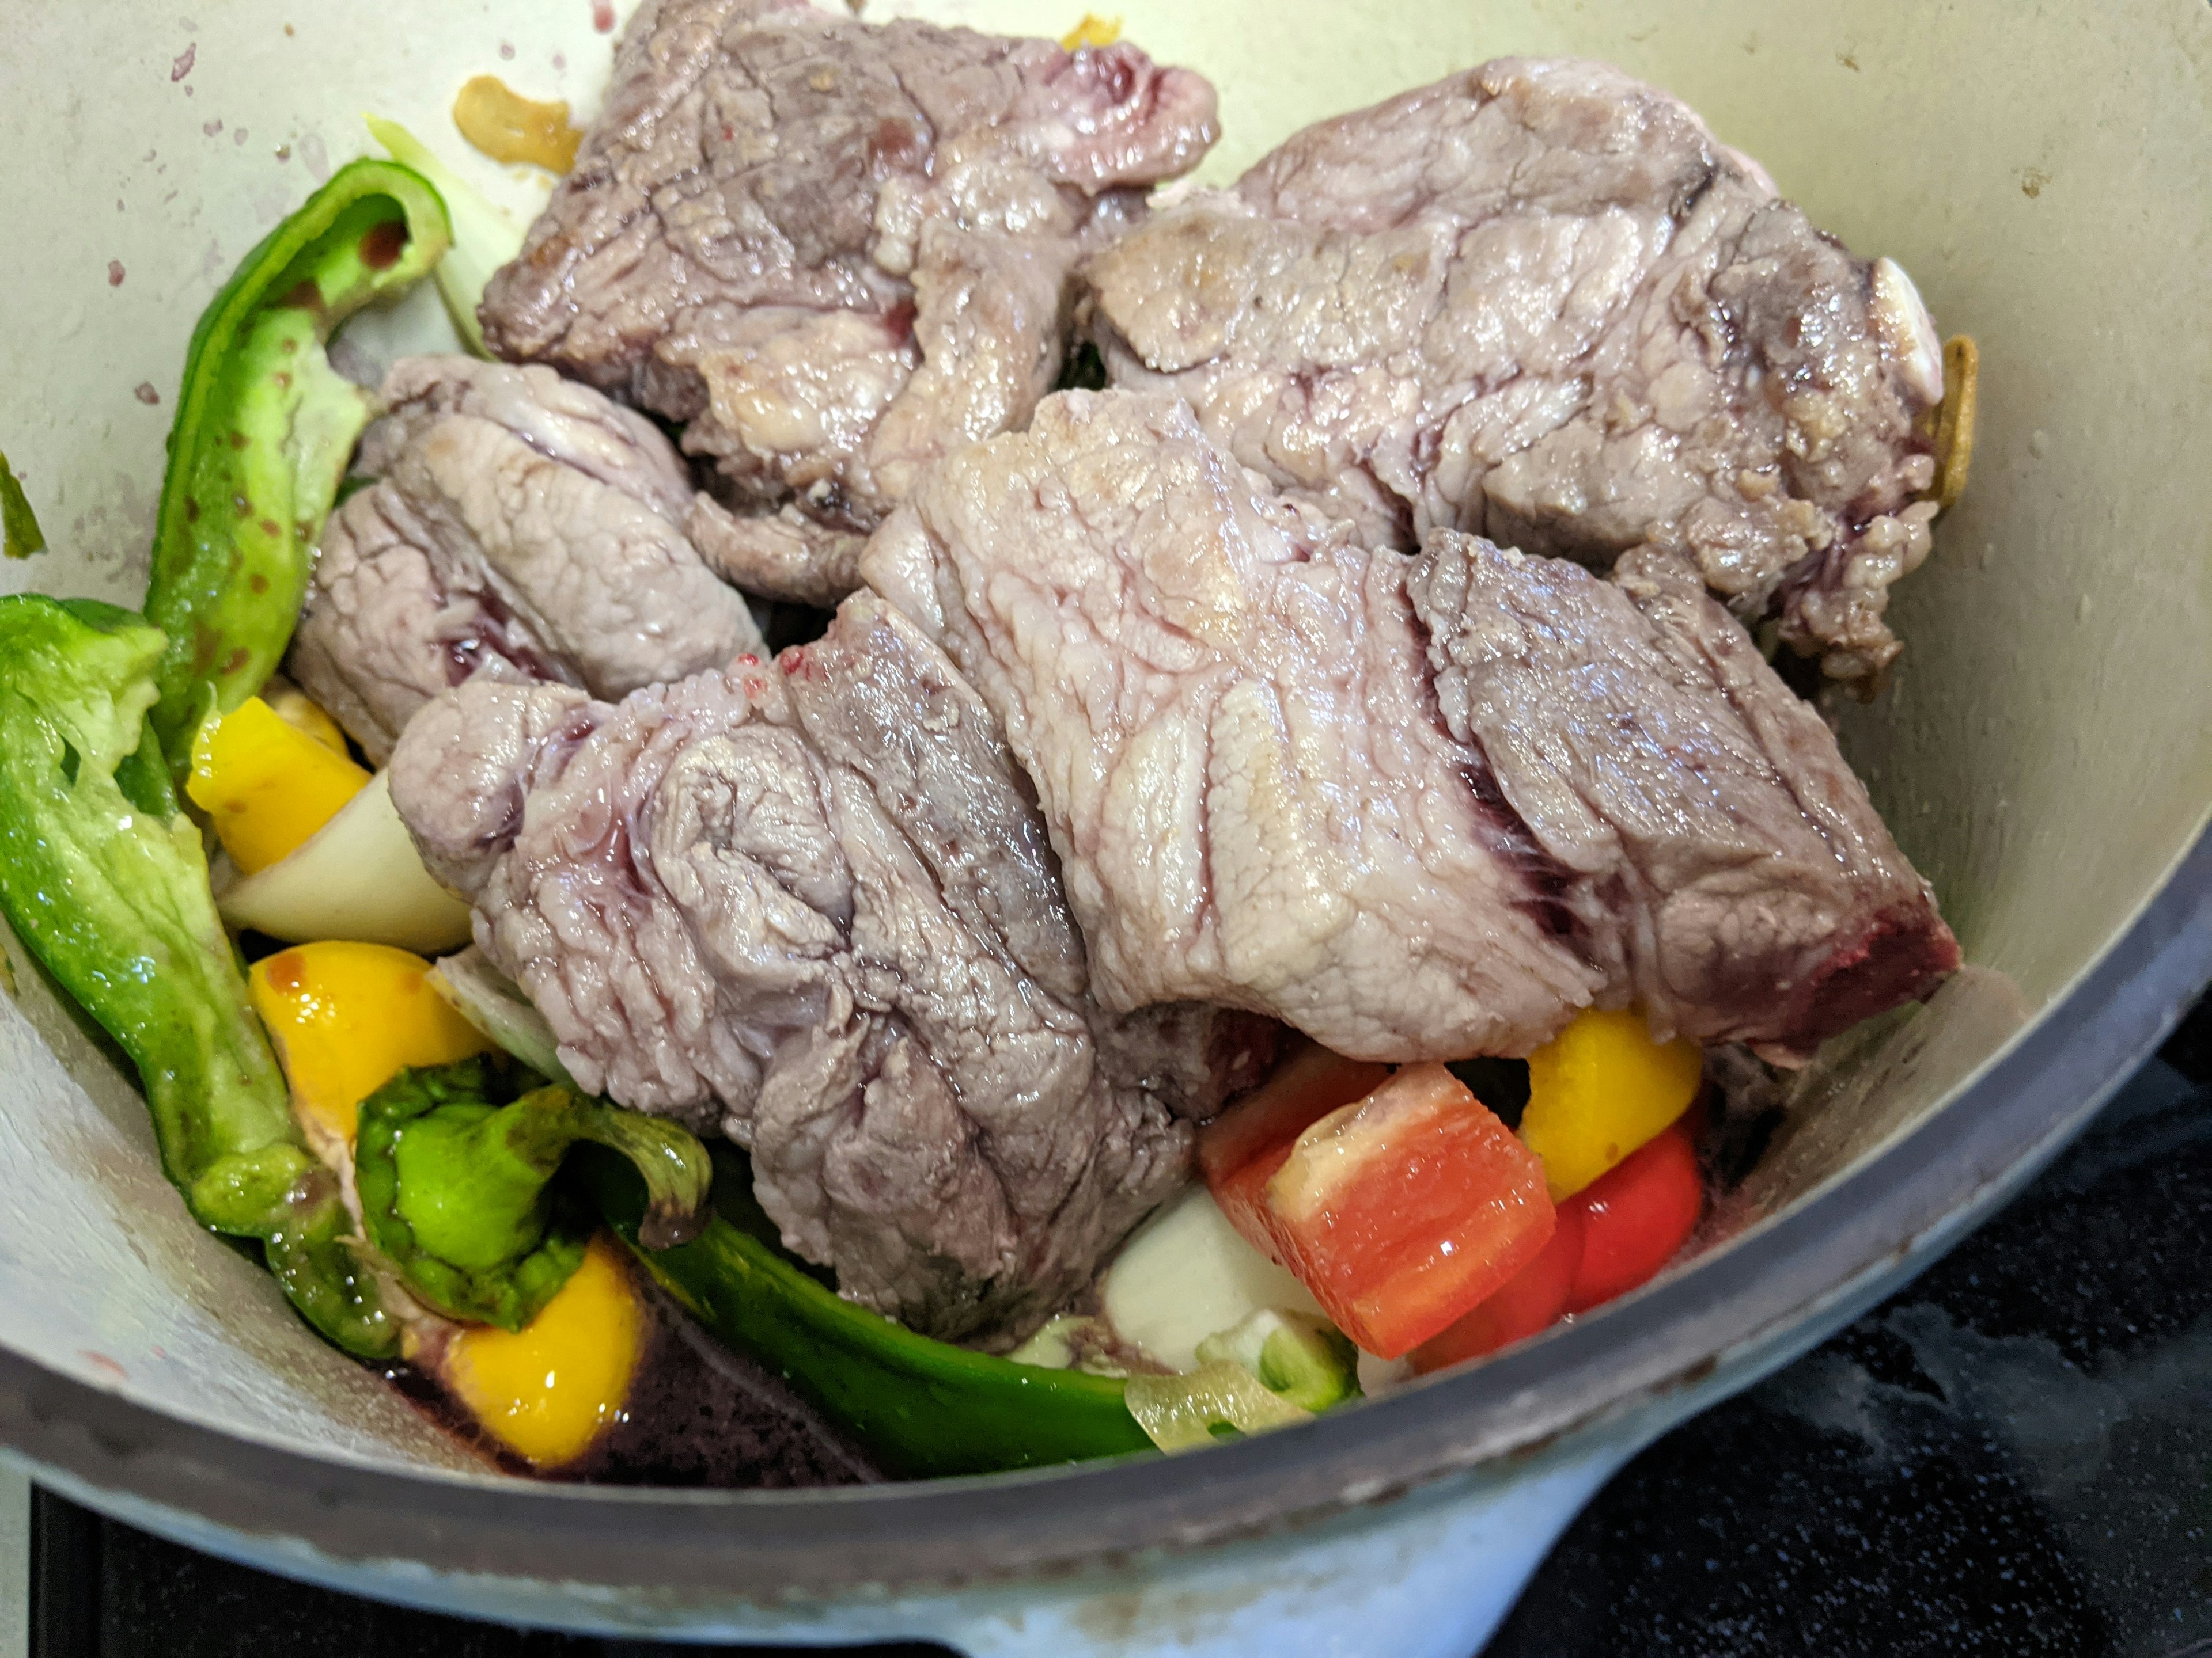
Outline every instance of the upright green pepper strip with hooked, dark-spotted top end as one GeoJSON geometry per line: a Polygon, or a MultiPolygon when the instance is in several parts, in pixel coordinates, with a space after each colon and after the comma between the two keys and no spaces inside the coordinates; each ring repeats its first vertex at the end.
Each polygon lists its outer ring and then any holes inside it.
{"type": "Polygon", "coordinates": [[[332,329],[409,287],[451,243],[445,203],[394,161],[354,161],[254,248],[192,329],[155,520],[146,619],[168,634],[153,730],[192,734],[276,668],[369,396],[332,329]]]}

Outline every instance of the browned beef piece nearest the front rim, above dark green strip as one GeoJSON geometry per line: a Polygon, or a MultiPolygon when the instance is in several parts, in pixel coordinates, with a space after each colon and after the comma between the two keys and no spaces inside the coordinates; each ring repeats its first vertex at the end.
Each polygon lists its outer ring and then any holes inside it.
{"type": "Polygon", "coordinates": [[[931,1335],[1079,1289],[1272,1052],[1237,1012],[1099,1015],[998,725],[869,595],[619,705],[462,685],[392,798],[584,1088],[726,1130],[785,1242],[931,1335]]]}

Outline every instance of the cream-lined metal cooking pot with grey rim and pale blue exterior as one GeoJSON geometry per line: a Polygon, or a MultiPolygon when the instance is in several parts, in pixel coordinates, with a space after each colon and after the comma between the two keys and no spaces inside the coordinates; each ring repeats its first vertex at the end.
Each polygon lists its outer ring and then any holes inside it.
{"type": "MultiPolygon", "coordinates": [[[[1082,7],[911,9],[1060,33],[1082,7]]],[[[1113,11],[1221,88],[1212,179],[1453,66],[1610,57],[1980,338],[1973,489],[1900,588],[1896,683],[1845,723],[1980,970],[1823,1057],[1825,1108],[1754,1176],[1770,1218],[1475,1371],[1175,1461],[750,1494],[535,1486],[462,1461],[186,1220],[144,1105],[9,940],[0,1444],[40,1479],[279,1572],[526,1623],[918,1634],[973,1654],[1467,1654],[1613,1468],[1927,1265],[2212,975],[2201,0],[1113,11]]],[[[358,113],[458,159],[460,80],[495,71],[588,113],[608,55],[586,0],[0,0],[0,442],[55,546],[0,590],[124,604],[192,321],[365,148],[358,113]]],[[[480,177],[526,212],[542,199],[480,177]]]]}

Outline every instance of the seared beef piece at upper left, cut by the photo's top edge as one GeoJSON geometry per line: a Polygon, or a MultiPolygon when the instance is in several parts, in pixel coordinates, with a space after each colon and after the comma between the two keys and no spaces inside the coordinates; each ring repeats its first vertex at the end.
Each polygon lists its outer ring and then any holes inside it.
{"type": "Polygon", "coordinates": [[[648,0],[484,336],[688,422],[717,568],[834,604],[922,462],[1029,418],[1075,261],[1214,135],[1135,46],[648,0]]]}

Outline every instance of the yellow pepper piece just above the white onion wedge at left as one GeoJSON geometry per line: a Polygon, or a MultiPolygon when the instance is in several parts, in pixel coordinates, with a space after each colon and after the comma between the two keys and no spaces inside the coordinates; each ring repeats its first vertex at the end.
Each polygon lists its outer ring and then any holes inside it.
{"type": "Polygon", "coordinates": [[[184,791],[215,822],[230,862],[252,875],[336,818],[367,783],[369,774],[345,758],[343,745],[332,752],[259,696],[248,696],[199,727],[184,791]]]}

